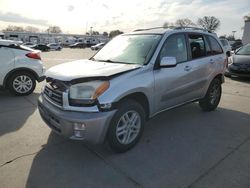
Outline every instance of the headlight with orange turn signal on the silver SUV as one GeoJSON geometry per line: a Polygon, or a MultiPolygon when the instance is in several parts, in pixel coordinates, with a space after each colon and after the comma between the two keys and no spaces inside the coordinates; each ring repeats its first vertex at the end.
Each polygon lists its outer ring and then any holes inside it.
{"type": "Polygon", "coordinates": [[[69,90],[69,102],[75,106],[93,104],[108,88],[109,81],[102,80],[72,85],[69,90]]]}

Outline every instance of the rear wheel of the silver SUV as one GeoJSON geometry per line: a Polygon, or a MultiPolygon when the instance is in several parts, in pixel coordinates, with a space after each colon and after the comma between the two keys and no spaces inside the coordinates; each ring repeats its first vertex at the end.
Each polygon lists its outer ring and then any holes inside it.
{"type": "Polygon", "coordinates": [[[213,111],[217,108],[221,98],[221,81],[214,79],[206,93],[206,96],[199,101],[199,105],[203,111],[213,111]]]}

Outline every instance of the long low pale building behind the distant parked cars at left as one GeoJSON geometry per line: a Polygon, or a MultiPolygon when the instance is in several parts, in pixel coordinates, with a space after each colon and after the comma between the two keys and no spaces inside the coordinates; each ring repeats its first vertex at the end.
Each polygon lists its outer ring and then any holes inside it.
{"type": "MultiPolygon", "coordinates": [[[[1,33],[0,33],[1,37],[1,33]]],[[[31,33],[31,32],[13,32],[4,31],[3,37],[8,40],[32,42],[32,43],[62,43],[70,45],[75,42],[85,42],[88,44],[97,44],[108,41],[107,36],[103,35],[81,35],[81,34],[64,34],[64,33],[31,33]]]]}

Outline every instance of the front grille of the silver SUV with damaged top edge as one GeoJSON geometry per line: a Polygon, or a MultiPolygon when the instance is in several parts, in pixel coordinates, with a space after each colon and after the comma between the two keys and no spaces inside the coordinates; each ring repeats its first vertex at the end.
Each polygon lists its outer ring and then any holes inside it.
{"type": "Polygon", "coordinates": [[[67,89],[67,85],[59,80],[50,80],[44,88],[44,94],[53,103],[63,105],[63,92],[67,89]]]}

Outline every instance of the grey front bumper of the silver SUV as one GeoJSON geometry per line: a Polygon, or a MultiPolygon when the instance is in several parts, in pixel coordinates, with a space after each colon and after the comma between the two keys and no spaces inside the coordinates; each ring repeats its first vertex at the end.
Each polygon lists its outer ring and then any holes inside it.
{"type": "MultiPolygon", "coordinates": [[[[110,121],[116,112],[75,112],[62,110],[40,96],[38,109],[44,122],[57,134],[73,140],[84,140],[93,144],[102,143],[110,121]],[[84,124],[81,137],[76,136],[74,123],[84,124]]],[[[79,130],[78,130],[79,131],[79,130]]]]}

